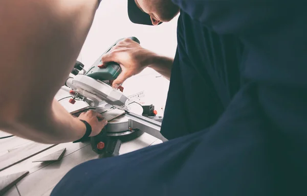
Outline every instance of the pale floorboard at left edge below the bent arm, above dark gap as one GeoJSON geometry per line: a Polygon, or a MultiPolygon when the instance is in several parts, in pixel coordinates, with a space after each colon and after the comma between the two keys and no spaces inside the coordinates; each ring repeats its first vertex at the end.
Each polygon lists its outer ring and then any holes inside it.
{"type": "Polygon", "coordinates": [[[37,155],[47,149],[52,148],[56,144],[42,144],[32,142],[20,150],[16,150],[0,157],[0,171],[15,165],[21,161],[24,161],[34,155],[37,155]]]}

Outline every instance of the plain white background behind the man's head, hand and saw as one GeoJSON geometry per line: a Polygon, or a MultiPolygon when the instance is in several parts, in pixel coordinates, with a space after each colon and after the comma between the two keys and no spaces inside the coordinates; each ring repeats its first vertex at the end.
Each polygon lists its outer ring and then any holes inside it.
{"type": "MultiPolygon", "coordinates": [[[[177,47],[177,19],[178,17],[157,27],[134,24],[128,18],[126,0],[102,0],[78,60],[88,68],[116,40],[130,36],[137,37],[148,50],[174,57],[177,47]]],[[[145,91],[146,104],[154,104],[156,109],[164,108],[169,82],[163,77],[157,78],[158,76],[160,75],[156,71],[146,68],[123,84],[124,93],[131,95],[145,91]]]]}

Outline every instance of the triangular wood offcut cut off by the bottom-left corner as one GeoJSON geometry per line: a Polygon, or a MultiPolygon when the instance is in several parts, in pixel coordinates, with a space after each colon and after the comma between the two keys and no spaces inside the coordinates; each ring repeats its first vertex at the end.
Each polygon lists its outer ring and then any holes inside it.
{"type": "Polygon", "coordinates": [[[29,174],[29,171],[22,171],[16,174],[0,176],[0,195],[12,188],[17,182],[29,174]]]}

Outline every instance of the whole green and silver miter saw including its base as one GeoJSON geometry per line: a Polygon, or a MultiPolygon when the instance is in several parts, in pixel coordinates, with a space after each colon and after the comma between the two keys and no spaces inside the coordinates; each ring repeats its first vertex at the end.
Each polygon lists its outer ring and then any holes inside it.
{"type": "MultiPolygon", "coordinates": [[[[102,55],[111,51],[112,47],[123,39],[117,40],[102,55]]],[[[129,39],[140,44],[136,37],[129,37],[129,39]]],[[[78,116],[87,110],[94,110],[108,120],[108,124],[101,133],[91,138],[92,149],[100,155],[100,158],[117,156],[121,142],[134,139],[144,132],[166,141],[160,133],[161,121],[150,119],[148,115],[143,116],[143,109],[141,108],[140,112],[140,108],[137,108],[141,105],[130,102],[123,93],[123,87],[120,86],[118,89],[112,87],[112,82],[121,73],[121,67],[116,62],[102,65],[102,55],[87,71],[84,65],[77,61],[72,71],[74,77],[69,77],[65,82],[73,97],[70,103],[74,104],[75,100],[81,100],[89,105],[71,112],[72,115],[78,116]]]]}

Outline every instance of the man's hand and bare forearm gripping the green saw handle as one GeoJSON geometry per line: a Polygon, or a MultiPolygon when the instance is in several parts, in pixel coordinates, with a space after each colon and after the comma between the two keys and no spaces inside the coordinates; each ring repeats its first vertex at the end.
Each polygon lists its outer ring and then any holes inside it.
{"type": "Polygon", "coordinates": [[[169,79],[173,62],[173,59],[153,53],[129,38],[118,42],[110,52],[102,56],[101,60],[103,64],[117,62],[122,68],[121,74],[113,82],[114,88],[131,76],[139,74],[146,67],[155,69],[169,79]]]}

